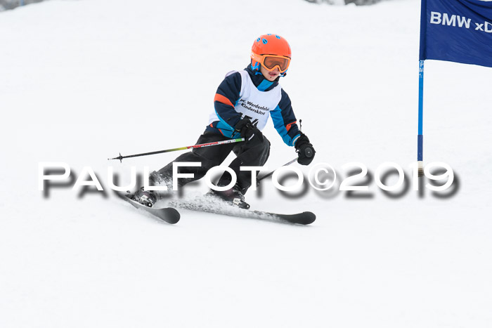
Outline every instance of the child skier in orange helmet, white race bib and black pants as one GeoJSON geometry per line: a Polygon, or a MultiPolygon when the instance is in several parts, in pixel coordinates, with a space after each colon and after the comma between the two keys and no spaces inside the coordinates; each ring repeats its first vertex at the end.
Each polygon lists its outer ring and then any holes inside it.
{"type": "MultiPolygon", "coordinates": [[[[313,161],[315,151],[309,138],[296,124],[289,96],[278,84],[285,77],[290,65],[290,46],[276,34],[258,37],[251,49],[251,64],[240,72],[230,72],[219,85],[214,98],[215,111],[209,117],[205,132],[198,138],[197,145],[231,138],[245,138],[240,143],[228,143],[212,147],[194,148],[179,156],[174,162],[201,162],[201,166],[179,168],[179,173],[193,173],[193,178],[180,178],[179,186],[205,176],[207,171],[220,165],[232,152],[237,156],[229,167],[236,174],[237,182],[226,191],[211,190],[207,195],[220,197],[235,206],[248,209],[245,192],[251,186],[251,171],[240,171],[240,166],[264,166],[270,154],[270,142],[261,133],[268,117],[283,138],[284,143],[294,146],[302,165],[313,161]]],[[[150,185],[167,185],[171,188],[173,162],[159,171],[150,173],[150,185]]],[[[225,172],[219,186],[231,183],[231,174],[225,172]]],[[[153,206],[157,193],[138,190],[131,198],[153,206]]]]}

